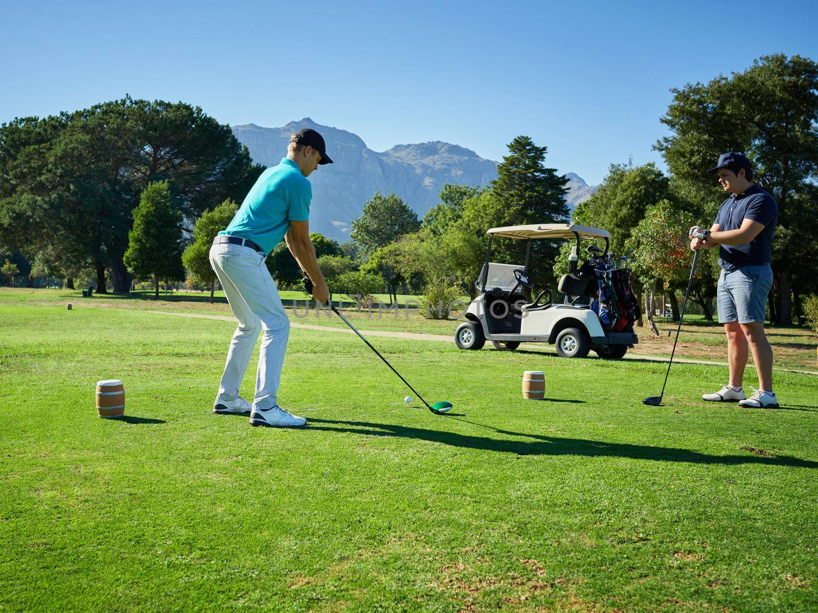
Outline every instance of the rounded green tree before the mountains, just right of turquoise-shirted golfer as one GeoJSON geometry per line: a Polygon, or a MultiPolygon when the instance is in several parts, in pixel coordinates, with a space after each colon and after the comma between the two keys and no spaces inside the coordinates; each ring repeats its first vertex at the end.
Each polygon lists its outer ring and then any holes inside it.
{"type": "Polygon", "coordinates": [[[417,215],[398,196],[375,192],[363,205],[361,216],[353,219],[349,237],[361,246],[362,255],[368,259],[381,247],[419,228],[417,215]]]}

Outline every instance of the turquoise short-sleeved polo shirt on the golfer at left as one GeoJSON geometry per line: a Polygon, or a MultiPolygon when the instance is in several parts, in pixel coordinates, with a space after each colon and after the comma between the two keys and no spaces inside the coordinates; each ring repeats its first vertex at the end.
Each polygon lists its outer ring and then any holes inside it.
{"type": "Polygon", "coordinates": [[[269,254],[290,229],[291,221],[309,219],[312,185],[293,160],[265,170],[241,203],[230,224],[219,232],[249,238],[269,254]]]}

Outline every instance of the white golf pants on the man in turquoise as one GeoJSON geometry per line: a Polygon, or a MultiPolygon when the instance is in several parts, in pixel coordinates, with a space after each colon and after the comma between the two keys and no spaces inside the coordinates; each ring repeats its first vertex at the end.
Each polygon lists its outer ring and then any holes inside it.
{"type": "Polygon", "coordinates": [[[233,315],[239,320],[227,349],[217,400],[231,401],[238,397],[258,333],[263,331],[254,397],[254,406],[260,409],[277,404],[281,367],[290,337],[290,319],[281,304],[276,282],[264,264],[265,259],[258,251],[242,245],[220,243],[210,247],[210,265],[224,288],[233,315]]]}

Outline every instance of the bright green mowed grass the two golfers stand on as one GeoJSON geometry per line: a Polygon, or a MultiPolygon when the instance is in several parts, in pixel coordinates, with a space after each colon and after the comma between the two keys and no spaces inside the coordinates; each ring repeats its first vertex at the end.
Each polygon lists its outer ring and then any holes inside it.
{"type": "Polygon", "coordinates": [[[674,364],[650,408],[667,363],[373,339],[436,417],[356,336],[294,328],[308,426],[268,430],[211,412],[234,327],[0,306],[0,610],[818,608],[818,377],[753,410],[674,364]]]}

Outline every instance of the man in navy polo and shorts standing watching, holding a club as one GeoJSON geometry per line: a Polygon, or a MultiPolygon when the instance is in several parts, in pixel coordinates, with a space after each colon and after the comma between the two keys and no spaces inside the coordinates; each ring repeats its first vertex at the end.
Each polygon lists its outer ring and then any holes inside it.
{"type": "Polygon", "coordinates": [[[764,333],[764,318],[772,286],[770,261],[778,205],[753,183],[753,167],[741,153],[722,153],[717,166],[708,170],[712,172],[718,174],[721,187],[731,195],[721,203],[709,230],[690,228],[690,249],[719,248],[718,320],[727,334],[730,381],[702,399],[777,408],[778,399],[772,390],[772,348],[764,333]],[[750,398],[742,387],[748,349],[753,352],[758,374],[758,389],[753,389],[750,398]]]}

